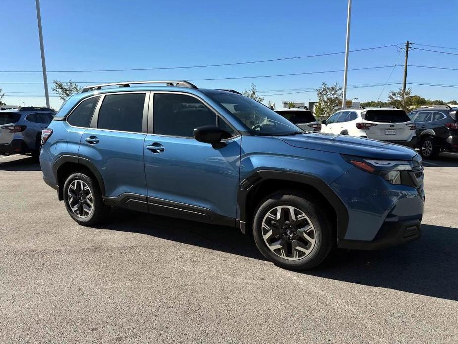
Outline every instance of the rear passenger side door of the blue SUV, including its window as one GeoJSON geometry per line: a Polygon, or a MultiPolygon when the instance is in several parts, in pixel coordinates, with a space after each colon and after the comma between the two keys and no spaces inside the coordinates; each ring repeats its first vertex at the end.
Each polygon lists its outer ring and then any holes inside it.
{"type": "Polygon", "coordinates": [[[105,195],[146,210],[143,147],[149,92],[103,94],[90,127],[83,133],[78,157],[100,172],[105,195]],[[137,202],[137,203],[136,203],[137,202]]]}

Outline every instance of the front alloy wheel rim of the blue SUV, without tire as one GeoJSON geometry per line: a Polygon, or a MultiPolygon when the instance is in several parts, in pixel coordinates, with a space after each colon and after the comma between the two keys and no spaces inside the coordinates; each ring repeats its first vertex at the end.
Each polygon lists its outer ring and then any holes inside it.
{"type": "Polygon", "coordinates": [[[299,260],[308,256],[316,243],[316,230],[310,218],[293,206],[270,209],[262,220],[262,237],[277,256],[299,260]]]}

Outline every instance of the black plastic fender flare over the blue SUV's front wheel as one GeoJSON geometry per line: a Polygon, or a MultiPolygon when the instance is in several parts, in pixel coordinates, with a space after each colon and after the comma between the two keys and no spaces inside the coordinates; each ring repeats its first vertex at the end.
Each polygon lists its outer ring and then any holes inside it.
{"type": "Polygon", "coordinates": [[[286,172],[278,170],[259,170],[254,172],[248,178],[244,179],[239,186],[237,193],[237,202],[239,206],[239,227],[242,232],[245,232],[245,223],[247,221],[246,202],[249,192],[261,183],[269,179],[277,179],[284,181],[294,181],[304,185],[312,186],[318,190],[321,195],[331,204],[337,215],[337,238],[343,239],[348,227],[348,210],[342,200],[335,192],[320,178],[296,172],[286,172]]]}

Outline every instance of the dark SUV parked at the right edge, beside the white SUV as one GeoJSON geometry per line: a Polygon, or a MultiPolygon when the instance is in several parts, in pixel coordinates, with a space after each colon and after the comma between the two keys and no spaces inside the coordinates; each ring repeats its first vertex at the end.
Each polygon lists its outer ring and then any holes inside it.
{"type": "Polygon", "coordinates": [[[416,124],[418,148],[423,158],[434,159],[442,151],[458,150],[458,108],[448,105],[421,107],[408,114],[416,124]]]}

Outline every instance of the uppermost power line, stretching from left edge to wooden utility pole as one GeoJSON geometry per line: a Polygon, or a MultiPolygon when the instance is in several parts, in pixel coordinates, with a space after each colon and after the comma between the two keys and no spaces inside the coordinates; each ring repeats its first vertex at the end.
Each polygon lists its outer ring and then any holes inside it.
{"type": "MultiPolygon", "coordinates": [[[[387,47],[398,47],[397,44],[390,44],[386,46],[371,47],[371,48],[361,48],[350,50],[350,52],[361,52],[366,50],[381,49],[387,47]]],[[[307,57],[320,57],[320,56],[330,56],[344,54],[345,52],[334,52],[334,53],[323,53],[323,54],[314,54],[314,55],[305,55],[305,56],[295,56],[295,57],[283,57],[283,58],[273,58],[266,60],[258,61],[245,61],[245,62],[232,62],[232,63],[218,63],[218,64],[204,64],[204,65],[195,65],[195,66],[176,66],[176,67],[153,67],[153,68],[123,68],[123,69],[93,69],[93,70],[49,70],[47,73],[86,73],[86,72],[123,72],[123,71],[145,71],[145,70],[169,70],[169,69],[192,69],[192,68],[206,68],[206,67],[222,67],[222,66],[233,66],[241,64],[253,64],[253,63],[265,63],[265,62],[276,62],[276,61],[286,61],[307,57]]],[[[0,70],[0,73],[41,73],[40,70],[0,70]]]]}

